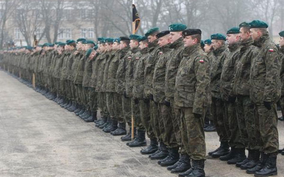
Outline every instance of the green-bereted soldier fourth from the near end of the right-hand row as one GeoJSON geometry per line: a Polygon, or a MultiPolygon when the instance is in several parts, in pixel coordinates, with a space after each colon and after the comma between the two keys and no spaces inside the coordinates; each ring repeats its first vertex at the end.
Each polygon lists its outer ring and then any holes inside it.
{"type": "Polygon", "coordinates": [[[212,116],[216,126],[219,141],[221,142],[220,147],[216,150],[209,152],[209,156],[213,158],[219,158],[229,153],[228,136],[226,135],[224,118],[223,118],[223,101],[221,100],[220,94],[220,78],[222,73],[222,66],[224,60],[227,57],[228,51],[225,44],[226,37],[223,34],[217,33],[211,35],[212,47],[214,49],[214,60],[211,65],[211,82],[210,89],[212,94],[212,116]]]}

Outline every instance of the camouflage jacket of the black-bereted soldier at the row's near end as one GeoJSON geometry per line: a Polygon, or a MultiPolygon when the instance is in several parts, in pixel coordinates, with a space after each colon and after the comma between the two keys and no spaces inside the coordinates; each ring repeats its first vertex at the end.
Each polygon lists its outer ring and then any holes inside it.
{"type": "Polygon", "coordinates": [[[209,72],[208,57],[200,44],[185,48],[176,75],[175,105],[192,107],[193,113],[202,114],[211,104],[209,72]]]}

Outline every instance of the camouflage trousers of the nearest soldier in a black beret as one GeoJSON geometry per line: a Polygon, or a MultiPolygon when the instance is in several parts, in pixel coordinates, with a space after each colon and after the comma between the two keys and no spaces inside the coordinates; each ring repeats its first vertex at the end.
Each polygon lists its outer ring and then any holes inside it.
{"type": "Polygon", "coordinates": [[[192,107],[181,107],[179,112],[182,124],[182,144],[187,154],[193,160],[206,160],[205,134],[203,129],[205,111],[201,118],[194,116],[192,107]]]}

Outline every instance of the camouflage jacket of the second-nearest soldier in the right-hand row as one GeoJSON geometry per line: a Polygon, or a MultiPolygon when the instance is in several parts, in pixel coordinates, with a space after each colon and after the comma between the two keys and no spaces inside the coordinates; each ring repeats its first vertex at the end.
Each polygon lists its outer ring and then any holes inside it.
{"type": "Polygon", "coordinates": [[[241,42],[239,61],[234,79],[234,92],[237,95],[250,95],[250,64],[253,57],[256,56],[256,47],[252,44],[253,40],[251,38],[241,42]]]}

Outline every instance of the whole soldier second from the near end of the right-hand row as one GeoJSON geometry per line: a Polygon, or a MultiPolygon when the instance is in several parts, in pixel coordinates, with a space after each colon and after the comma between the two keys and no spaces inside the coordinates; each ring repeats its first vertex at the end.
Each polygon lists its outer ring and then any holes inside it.
{"type": "Polygon", "coordinates": [[[257,146],[254,133],[253,104],[250,101],[250,65],[256,56],[256,47],[250,37],[250,26],[247,22],[239,25],[240,28],[240,54],[234,78],[234,92],[236,98],[236,110],[241,141],[248,150],[247,158],[236,164],[236,167],[248,169],[254,167],[259,161],[259,146],[257,146]]]}

